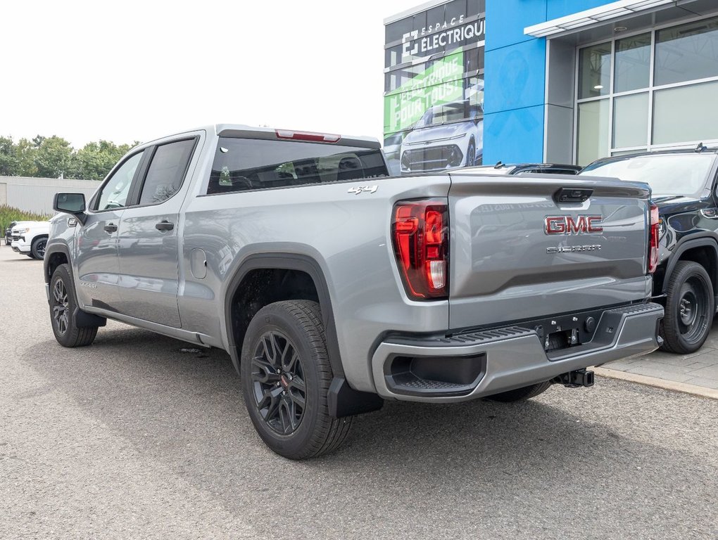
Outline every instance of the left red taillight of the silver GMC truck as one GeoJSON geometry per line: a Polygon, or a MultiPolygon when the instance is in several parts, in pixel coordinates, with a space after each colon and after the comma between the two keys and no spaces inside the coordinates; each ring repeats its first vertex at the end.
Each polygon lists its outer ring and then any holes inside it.
{"type": "Polygon", "coordinates": [[[449,213],[441,199],[398,202],[391,224],[396,262],[414,300],[447,298],[449,213]]]}

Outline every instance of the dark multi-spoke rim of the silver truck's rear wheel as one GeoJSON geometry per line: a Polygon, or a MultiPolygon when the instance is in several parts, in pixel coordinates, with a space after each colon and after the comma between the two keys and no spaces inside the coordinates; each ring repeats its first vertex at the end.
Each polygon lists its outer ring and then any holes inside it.
{"type": "Polygon", "coordinates": [[[304,366],[297,349],[280,331],[264,333],[254,350],[251,377],[256,407],[279,435],[299,428],[307,403],[304,366]]]}

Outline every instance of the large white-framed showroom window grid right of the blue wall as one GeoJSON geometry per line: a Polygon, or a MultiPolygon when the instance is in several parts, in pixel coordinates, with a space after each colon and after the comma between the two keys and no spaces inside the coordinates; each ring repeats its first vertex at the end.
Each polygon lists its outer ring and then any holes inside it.
{"type": "Polygon", "coordinates": [[[718,17],[578,49],[576,161],[718,143],[718,17]]]}

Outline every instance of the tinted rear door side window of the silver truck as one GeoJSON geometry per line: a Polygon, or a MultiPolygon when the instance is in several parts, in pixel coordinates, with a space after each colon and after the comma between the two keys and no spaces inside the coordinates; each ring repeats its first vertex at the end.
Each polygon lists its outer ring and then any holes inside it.
{"type": "Polygon", "coordinates": [[[142,185],[139,204],[157,204],[179,191],[195,141],[192,138],[157,146],[142,185]]]}

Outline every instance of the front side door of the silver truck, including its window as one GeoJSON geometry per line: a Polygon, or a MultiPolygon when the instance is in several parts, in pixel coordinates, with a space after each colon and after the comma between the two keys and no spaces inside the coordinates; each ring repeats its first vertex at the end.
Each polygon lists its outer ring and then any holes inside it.
{"type": "Polygon", "coordinates": [[[75,270],[84,305],[118,311],[117,231],[143,158],[144,151],[139,151],[116,167],[90,202],[85,224],[78,225],[75,270]]]}

